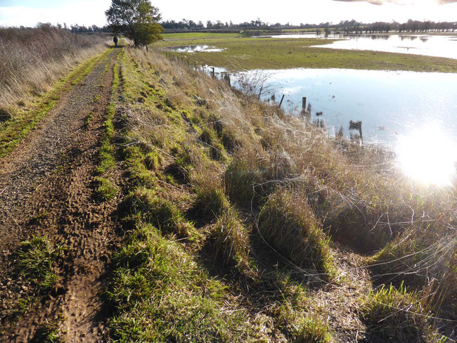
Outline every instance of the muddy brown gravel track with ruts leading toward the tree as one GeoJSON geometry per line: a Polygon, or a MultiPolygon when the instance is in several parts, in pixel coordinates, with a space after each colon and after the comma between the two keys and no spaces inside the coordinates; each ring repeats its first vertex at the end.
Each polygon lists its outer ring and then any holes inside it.
{"type": "MultiPolygon", "coordinates": [[[[117,199],[94,199],[94,174],[118,53],[120,49],[113,49],[0,161],[0,259],[7,261],[0,266],[0,325],[5,330],[0,331],[1,342],[37,341],[37,330],[55,316],[64,342],[103,340],[100,293],[117,244],[117,199]],[[90,124],[84,127],[89,113],[90,124]],[[67,246],[62,279],[50,295],[12,321],[6,309],[30,290],[9,277],[11,252],[20,241],[39,234],[67,246]]],[[[121,179],[116,171],[112,177],[121,179]]]]}

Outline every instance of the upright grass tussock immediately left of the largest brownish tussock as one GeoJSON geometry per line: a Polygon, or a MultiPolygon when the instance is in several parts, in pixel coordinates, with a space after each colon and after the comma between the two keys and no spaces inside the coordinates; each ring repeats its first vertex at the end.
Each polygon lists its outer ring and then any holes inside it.
{"type": "Polygon", "coordinates": [[[210,244],[215,258],[239,271],[250,270],[250,232],[241,222],[236,209],[224,209],[210,233],[210,244]]]}

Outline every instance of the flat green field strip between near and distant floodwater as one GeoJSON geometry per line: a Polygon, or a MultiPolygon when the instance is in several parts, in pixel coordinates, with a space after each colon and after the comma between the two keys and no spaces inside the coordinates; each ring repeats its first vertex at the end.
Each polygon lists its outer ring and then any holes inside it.
{"type": "Polygon", "coordinates": [[[457,60],[431,56],[312,48],[330,44],[332,39],[285,38],[188,38],[161,41],[155,46],[209,45],[224,48],[221,52],[183,53],[200,64],[226,67],[229,70],[345,68],[363,70],[411,70],[418,72],[457,72],[457,60]]]}

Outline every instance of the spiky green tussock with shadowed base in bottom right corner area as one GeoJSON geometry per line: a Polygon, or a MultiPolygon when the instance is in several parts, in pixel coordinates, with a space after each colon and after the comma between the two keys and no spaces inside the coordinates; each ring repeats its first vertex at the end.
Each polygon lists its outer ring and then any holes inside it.
{"type": "Polygon", "coordinates": [[[384,287],[364,300],[361,319],[371,339],[390,342],[446,342],[432,328],[430,302],[406,287],[384,287]]]}

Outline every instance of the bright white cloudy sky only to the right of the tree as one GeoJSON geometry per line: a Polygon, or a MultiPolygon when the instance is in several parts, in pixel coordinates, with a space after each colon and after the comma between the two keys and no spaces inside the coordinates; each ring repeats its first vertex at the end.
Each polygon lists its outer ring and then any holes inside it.
{"type": "MultiPolygon", "coordinates": [[[[414,1],[414,0],[399,0],[414,1]]],[[[373,22],[378,20],[406,21],[409,18],[435,21],[456,20],[457,3],[439,6],[435,0],[416,0],[409,6],[398,6],[388,3],[384,6],[374,6],[367,2],[333,1],[333,0],[262,0],[262,1],[170,1],[155,0],[154,6],[160,8],[164,19],[181,20],[182,18],[195,21],[221,20],[226,22],[244,22],[255,20],[257,17],[265,22],[340,22],[352,18],[373,22]]]]}

